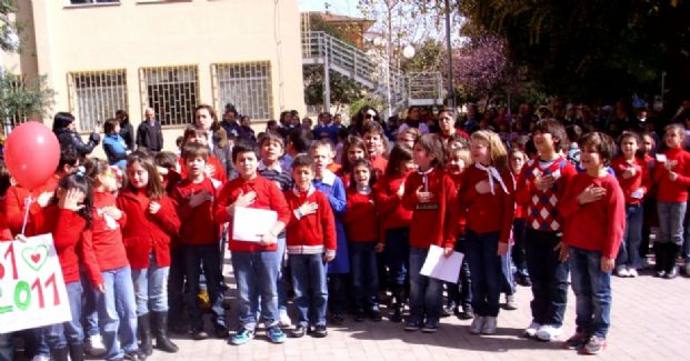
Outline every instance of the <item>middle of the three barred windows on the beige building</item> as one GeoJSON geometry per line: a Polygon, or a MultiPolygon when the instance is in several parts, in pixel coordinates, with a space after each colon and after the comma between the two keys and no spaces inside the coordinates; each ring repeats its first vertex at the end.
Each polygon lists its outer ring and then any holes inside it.
{"type": "Polygon", "coordinates": [[[162,126],[190,124],[199,99],[197,66],[141,68],[144,108],[152,108],[162,126]]]}

